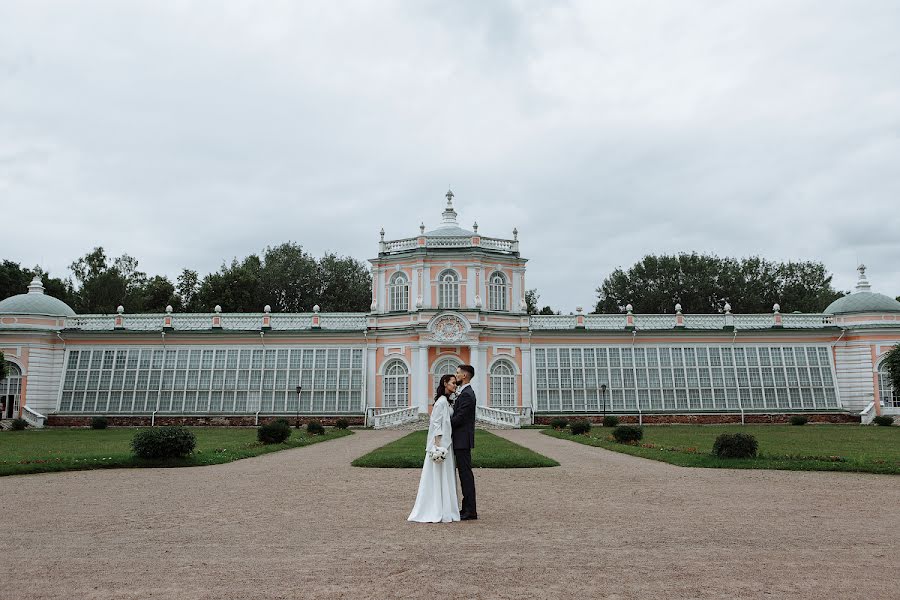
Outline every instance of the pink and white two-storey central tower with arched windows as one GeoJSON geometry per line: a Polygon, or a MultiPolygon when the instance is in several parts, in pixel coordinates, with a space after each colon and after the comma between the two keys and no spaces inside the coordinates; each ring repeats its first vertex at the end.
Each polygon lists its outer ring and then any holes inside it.
{"type": "Polygon", "coordinates": [[[452,191],[440,224],[385,240],[372,263],[367,335],[373,372],[369,406],[426,411],[437,379],[460,364],[475,367],[482,406],[522,405],[530,368],[525,264],[511,239],[460,227],[452,191]],[[524,368],[524,370],[523,370],[524,368]]]}

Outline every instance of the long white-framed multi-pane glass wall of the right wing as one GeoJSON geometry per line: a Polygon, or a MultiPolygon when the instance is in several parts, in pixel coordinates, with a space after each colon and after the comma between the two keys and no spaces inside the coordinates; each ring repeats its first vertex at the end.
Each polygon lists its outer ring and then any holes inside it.
{"type": "Polygon", "coordinates": [[[838,408],[824,347],[557,347],[534,359],[538,411],[838,408]]]}

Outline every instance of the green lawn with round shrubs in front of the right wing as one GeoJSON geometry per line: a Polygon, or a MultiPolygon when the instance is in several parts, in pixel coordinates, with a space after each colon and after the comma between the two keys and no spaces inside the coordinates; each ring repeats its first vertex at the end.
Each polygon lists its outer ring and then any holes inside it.
{"type": "Polygon", "coordinates": [[[900,474],[900,427],[859,425],[651,425],[638,445],[612,440],[612,429],[589,435],[545,429],[544,434],[683,467],[857,471],[900,474]],[[711,454],[722,433],[749,433],[759,441],[757,458],[724,459],[711,454]]]}

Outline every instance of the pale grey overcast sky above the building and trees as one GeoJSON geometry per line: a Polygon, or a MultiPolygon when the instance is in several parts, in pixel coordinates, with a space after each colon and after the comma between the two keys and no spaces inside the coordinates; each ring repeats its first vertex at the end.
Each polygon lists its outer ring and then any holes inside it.
{"type": "Polygon", "coordinates": [[[565,312],[692,250],[896,296],[898,32],[878,0],[0,0],[0,258],[368,259],[449,184],[565,312]]]}

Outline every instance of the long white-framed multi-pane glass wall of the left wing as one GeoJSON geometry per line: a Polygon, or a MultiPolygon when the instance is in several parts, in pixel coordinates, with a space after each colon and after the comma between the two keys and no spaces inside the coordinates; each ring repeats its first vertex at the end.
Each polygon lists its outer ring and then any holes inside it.
{"type": "Polygon", "coordinates": [[[72,349],[65,364],[64,413],[363,411],[362,348],[72,349]]]}

